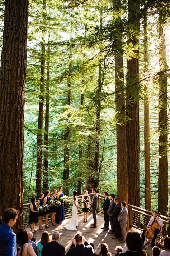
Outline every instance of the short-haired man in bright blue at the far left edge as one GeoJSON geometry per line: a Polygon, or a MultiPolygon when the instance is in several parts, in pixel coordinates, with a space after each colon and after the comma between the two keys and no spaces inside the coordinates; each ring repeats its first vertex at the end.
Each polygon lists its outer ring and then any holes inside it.
{"type": "Polygon", "coordinates": [[[6,209],[2,214],[0,225],[0,255],[16,256],[16,234],[11,229],[18,218],[18,211],[14,208],[6,209]]]}

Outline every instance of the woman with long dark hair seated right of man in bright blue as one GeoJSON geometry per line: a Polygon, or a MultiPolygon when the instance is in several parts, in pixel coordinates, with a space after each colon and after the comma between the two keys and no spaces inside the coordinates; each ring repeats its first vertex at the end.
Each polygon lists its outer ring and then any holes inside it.
{"type": "Polygon", "coordinates": [[[21,228],[16,235],[16,242],[20,247],[17,256],[36,256],[31,243],[28,243],[28,234],[26,229],[21,228]]]}

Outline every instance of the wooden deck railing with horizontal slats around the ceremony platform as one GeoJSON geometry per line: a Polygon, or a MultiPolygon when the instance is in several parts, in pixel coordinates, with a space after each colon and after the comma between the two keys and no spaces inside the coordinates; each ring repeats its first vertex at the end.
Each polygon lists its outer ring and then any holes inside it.
{"type": "MultiPolygon", "coordinates": [[[[82,213],[82,199],[83,195],[77,196],[78,202],[79,202],[79,209],[78,209],[78,214],[82,213]]],[[[92,199],[93,194],[89,194],[90,198],[92,199]]],[[[102,204],[104,201],[104,196],[98,193],[98,210],[97,212],[100,212],[103,214],[102,211],[102,204]]],[[[29,218],[29,211],[30,211],[30,203],[25,203],[23,205],[23,223],[24,225],[28,225],[28,218],[29,218]]],[[[69,202],[65,203],[64,205],[64,213],[65,216],[71,216],[72,215],[72,197],[69,197],[69,202]]],[[[148,221],[150,217],[152,216],[151,211],[147,211],[143,208],[130,205],[128,204],[128,213],[129,213],[129,225],[133,226],[134,228],[137,228],[136,223],[141,223],[141,224],[148,224],[148,221]]],[[[162,228],[162,236],[166,237],[167,235],[170,237],[170,218],[160,215],[161,219],[163,220],[164,226],[162,228]]],[[[49,215],[50,219],[50,215],[49,215]]]]}

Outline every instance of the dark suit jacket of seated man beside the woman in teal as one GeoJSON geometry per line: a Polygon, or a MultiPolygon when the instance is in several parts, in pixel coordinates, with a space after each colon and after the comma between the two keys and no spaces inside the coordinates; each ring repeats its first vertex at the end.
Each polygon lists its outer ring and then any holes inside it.
{"type": "Polygon", "coordinates": [[[41,256],[66,256],[65,248],[57,241],[44,243],[41,251],[41,256]]]}

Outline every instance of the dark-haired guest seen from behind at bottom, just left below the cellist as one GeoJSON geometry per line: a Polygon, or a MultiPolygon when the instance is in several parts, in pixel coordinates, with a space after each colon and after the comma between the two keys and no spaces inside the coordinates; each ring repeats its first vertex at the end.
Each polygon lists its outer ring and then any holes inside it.
{"type": "Polygon", "coordinates": [[[146,252],[142,250],[142,239],[138,232],[129,231],[126,236],[126,244],[128,247],[128,251],[125,253],[121,253],[120,255],[127,256],[146,256],[146,252]]]}

